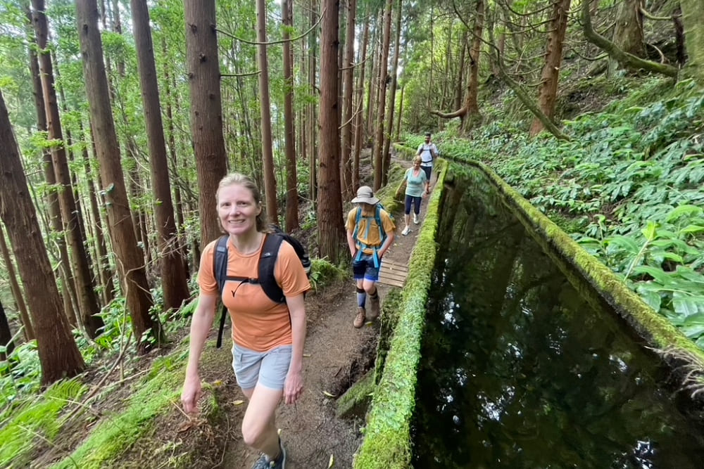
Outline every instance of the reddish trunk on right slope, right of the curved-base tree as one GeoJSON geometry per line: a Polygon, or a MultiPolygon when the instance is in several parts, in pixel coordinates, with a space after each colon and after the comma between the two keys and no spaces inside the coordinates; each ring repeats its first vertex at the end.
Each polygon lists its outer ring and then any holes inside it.
{"type": "MultiPolygon", "coordinates": [[[[567,13],[570,13],[570,0],[560,0],[553,4],[553,17],[550,20],[550,34],[545,50],[545,65],[541,75],[538,91],[538,105],[548,119],[555,115],[555,97],[558,94],[558,80],[562,65],[562,44],[567,31],[567,13]]],[[[543,123],[534,118],[530,128],[531,136],[536,136],[543,130],[543,123]]]]}

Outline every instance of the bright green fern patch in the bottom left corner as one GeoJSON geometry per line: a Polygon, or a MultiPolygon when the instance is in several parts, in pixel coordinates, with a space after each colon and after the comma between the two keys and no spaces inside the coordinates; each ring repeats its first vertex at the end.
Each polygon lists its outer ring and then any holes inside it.
{"type": "MultiPolygon", "coordinates": [[[[80,399],[87,386],[77,380],[58,381],[42,396],[25,399],[11,409],[11,418],[0,430],[0,466],[21,468],[30,464],[32,446],[37,439],[51,442],[61,430],[61,410],[80,399]]],[[[9,412],[5,412],[9,413],[9,412]]],[[[4,415],[3,418],[6,416],[4,415]]]]}

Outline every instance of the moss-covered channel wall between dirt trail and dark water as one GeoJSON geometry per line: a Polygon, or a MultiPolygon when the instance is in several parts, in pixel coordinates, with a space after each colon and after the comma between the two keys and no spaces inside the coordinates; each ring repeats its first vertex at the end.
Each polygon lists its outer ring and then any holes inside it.
{"type": "MultiPolygon", "coordinates": [[[[406,150],[403,147],[396,148],[406,150]]],[[[408,278],[401,293],[396,318],[398,322],[389,341],[382,378],[375,387],[367,413],[365,437],[353,466],[356,469],[406,469],[411,465],[410,423],[415,408],[417,366],[425,328],[425,304],[435,264],[438,207],[447,169],[442,160],[437,163],[434,170],[438,180],[410,256],[408,278]]]]}

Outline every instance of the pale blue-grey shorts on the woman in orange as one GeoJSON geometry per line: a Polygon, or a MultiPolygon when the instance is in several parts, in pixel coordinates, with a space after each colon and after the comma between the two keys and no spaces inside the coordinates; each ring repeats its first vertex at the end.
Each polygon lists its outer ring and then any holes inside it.
{"type": "Polygon", "coordinates": [[[271,390],[283,390],[292,349],[291,345],[282,345],[269,352],[255,352],[232,345],[232,369],[239,387],[251,390],[259,383],[271,390]]]}

